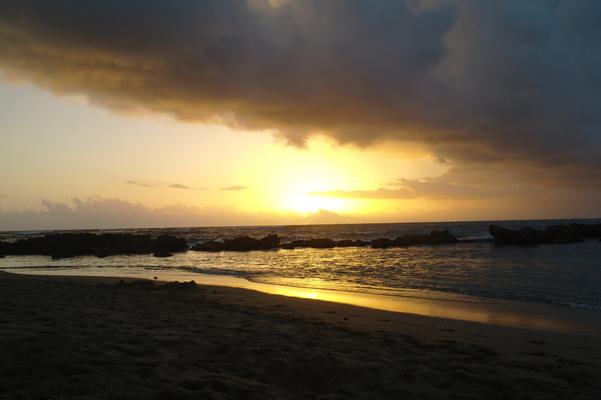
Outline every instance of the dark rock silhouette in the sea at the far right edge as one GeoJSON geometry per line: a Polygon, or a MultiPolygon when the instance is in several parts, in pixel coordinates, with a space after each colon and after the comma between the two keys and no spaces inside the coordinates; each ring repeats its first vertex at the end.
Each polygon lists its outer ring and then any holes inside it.
{"type": "Polygon", "coordinates": [[[601,237],[601,224],[552,225],[544,230],[534,228],[508,229],[489,225],[496,244],[533,246],[537,244],[578,243],[587,238],[601,237]]]}

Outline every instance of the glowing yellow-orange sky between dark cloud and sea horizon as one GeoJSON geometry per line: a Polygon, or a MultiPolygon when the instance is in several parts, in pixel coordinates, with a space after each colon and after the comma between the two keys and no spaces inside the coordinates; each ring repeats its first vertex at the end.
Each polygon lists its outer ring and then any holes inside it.
{"type": "Polygon", "coordinates": [[[481,183],[449,186],[451,167],[408,143],[316,136],[299,147],[273,132],[119,115],[8,82],[0,100],[3,229],[553,216],[481,183]]]}

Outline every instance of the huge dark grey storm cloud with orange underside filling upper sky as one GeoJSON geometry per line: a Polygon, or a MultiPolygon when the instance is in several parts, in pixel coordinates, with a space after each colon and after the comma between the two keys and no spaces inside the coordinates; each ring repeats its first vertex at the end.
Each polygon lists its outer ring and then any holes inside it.
{"type": "Polygon", "coordinates": [[[4,0],[0,66],[118,110],[601,183],[598,1],[271,4],[4,0]]]}

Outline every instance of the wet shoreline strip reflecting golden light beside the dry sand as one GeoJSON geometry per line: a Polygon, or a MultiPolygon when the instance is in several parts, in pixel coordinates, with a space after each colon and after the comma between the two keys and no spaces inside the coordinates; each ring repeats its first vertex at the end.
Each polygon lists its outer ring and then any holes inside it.
{"type": "MultiPolygon", "coordinates": [[[[468,321],[507,326],[545,330],[559,333],[571,333],[580,336],[601,338],[601,318],[598,311],[568,308],[542,303],[518,302],[503,299],[485,299],[459,294],[444,294],[440,298],[419,296],[399,296],[351,292],[334,289],[314,289],[249,281],[245,278],[202,273],[139,273],[113,274],[112,272],[89,275],[82,274],[81,269],[62,269],[60,271],[30,270],[10,271],[21,275],[32,276],[90,276],[120,279],[148,279],[157,277],[159,281],[191,281],[201,285],[242,288],[261,293],[283,295],[310,300],[323,300],[333,303],[348,304],[375,310],[407,313],[433,318],[468,321]],[[40,273],[41,272],[41,273],[40,273]],[[158,275],[158,276],[157,276],[158,275]]],[[[161,271],[164,272],[164,271],[161,271]]],[[[435,293],[435,292],[433,292],[435,293]]]]}

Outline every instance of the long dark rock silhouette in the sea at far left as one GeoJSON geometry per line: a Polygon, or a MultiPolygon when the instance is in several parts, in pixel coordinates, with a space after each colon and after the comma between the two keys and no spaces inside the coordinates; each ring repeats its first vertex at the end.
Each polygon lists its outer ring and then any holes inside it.
{"type": "Polygon", "coordinates": [[[3,242],[0,249],[9,255],[48,255],[53,259],[83,255],[107,257],[119,254],[172,253],[188,250],[183,238],[130,233],[54,233],[40,237],[3,242]]]}

